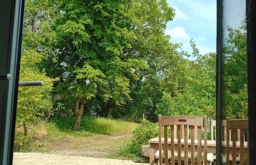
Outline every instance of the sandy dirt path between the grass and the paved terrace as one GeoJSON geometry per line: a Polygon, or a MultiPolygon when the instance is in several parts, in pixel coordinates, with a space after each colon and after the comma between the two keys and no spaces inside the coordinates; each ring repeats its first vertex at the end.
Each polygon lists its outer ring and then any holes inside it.
{"type": "Polygon", "coordinates": [[[132,138],[132,131],[125,134],[93,135],[46,142],[43,151],[50,154],[110,158],[132,138]]]}

